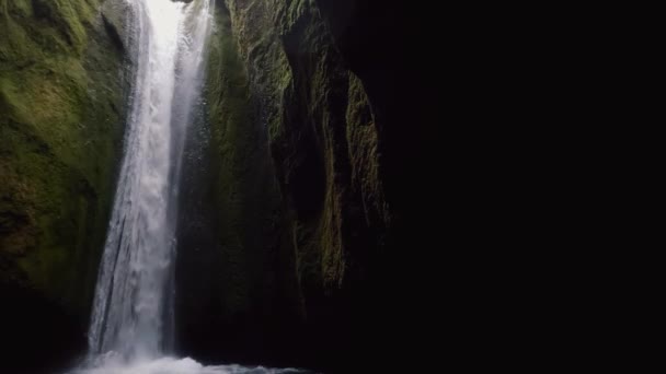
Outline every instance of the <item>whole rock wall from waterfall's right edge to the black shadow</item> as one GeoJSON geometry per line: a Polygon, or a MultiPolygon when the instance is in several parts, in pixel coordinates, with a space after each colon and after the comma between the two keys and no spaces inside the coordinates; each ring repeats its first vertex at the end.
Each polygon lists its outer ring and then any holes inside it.
{"type": "Polygon", "coordinates": [[[372,100],[314,1],[217,5],[206,100],[220,283],[208,326],[229,360],[251,360],[233,357],[245,344],[264,361],[344,365],[392,218],[372,100]]]}

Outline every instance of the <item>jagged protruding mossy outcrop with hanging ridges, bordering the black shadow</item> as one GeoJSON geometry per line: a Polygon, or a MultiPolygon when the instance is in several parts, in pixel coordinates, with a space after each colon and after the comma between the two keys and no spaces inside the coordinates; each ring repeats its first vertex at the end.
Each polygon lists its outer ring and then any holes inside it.
{"type": "Polygon", "coordinates": [[[363,278],[390,225],[370,100],[315,2],[227,4],[251,89],[264,97],[306,302],[334,299],[363,278]]]}

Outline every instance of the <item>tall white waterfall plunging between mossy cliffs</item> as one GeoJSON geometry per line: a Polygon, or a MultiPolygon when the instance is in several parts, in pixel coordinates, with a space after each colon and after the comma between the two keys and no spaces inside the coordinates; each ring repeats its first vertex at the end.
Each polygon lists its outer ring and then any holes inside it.
{"type": "Polygon", "coordinates": [[[154,358],[169,349],[180,165],[211,2],[130,1],[135,82],[95,290],[92,354],[154,358]]]}

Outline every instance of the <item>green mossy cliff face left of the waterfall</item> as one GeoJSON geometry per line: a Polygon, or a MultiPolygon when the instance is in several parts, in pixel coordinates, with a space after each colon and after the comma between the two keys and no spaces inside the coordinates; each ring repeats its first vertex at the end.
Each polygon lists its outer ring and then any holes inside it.
{"type": "Polygon", "coordinates": [[[113,19],[97,0],[0,1],[0,330],[22,353],[10,361],[84,341],[122,147],[113,19]]]}

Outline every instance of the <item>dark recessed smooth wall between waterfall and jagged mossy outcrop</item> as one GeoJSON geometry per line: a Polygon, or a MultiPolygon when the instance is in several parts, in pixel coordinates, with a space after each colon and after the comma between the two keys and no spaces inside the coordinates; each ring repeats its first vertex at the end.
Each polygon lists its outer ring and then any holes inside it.
{"type": "Polygon", "coordinates": [[[296,273],[264,116],[222,3],[215,20],[181,186],[176,350],[256,362],[279,357],[275,339],[299,320],[296,273]]]}

